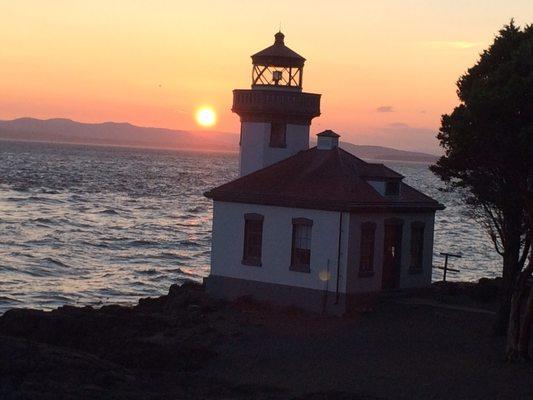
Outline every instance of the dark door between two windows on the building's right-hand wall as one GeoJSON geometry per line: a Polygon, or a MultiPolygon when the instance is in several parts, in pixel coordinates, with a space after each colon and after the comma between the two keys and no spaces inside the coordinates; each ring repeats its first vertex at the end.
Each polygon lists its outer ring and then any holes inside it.
{"type": "Polygon", "coordinates": [[[384,234],[381,288],[385,290],[398,289],[402,257],[402,225],[397,222],[385,223],[384,234]]]}

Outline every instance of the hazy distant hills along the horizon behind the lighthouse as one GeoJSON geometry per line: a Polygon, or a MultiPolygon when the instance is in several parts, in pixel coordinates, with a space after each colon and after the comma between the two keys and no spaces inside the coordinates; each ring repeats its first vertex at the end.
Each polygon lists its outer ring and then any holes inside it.
{"type": "MultiPolygon", "coordinates": [[[[238,151],[239,135],[216,131],[182,131],[146,128],[129,123],[87,124],[70,119],[0,120],[0,139],[134,146],[206,151],[238,151]]],[[[341,147],[360,158],[432,162],[436,156],[381,146],[363,146],[341,141],[341,147]]]]}

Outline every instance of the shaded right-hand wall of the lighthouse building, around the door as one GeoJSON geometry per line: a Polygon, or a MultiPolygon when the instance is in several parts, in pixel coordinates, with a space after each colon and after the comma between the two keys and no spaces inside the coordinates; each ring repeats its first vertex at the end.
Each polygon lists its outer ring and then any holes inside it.
{"type": "Polygon", "coordinates": [[[435,224],[434,212],[404,214],[353,213],[350,215],[350,233],[347,260],[348,293],[361,293],[381,290],[383,237],[385,220],[389,218],[400,218],[403,220],[400,288],[424,287],[431,284],[431,272],[433,265],[433,231],[435,224]],[[425,224],[423,269],[421,273],[412,273],[409,271],[411,223],[415,221],[421,221],[425,224]],[[370,277],[359,277],[361,224],[365,222],[374,222],[376,224],[376,236],[374,243],[374,275],[370,277]]]}

